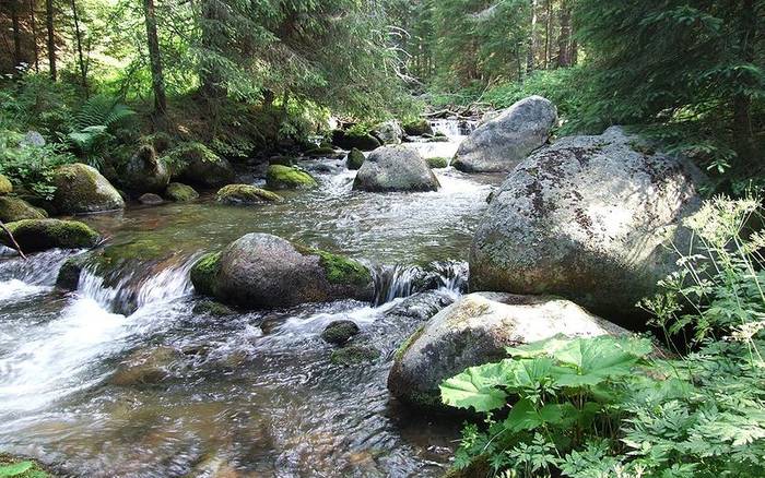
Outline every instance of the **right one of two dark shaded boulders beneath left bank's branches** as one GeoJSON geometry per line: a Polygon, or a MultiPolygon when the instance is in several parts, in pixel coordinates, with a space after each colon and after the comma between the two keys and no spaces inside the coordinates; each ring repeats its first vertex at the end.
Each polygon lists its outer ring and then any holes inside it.
{"type": "Polygon", "coordinates": [[[234,167],[202,143],[184,143],[166,156],[173,178],[201,188],[221,188],[236,181],[234,167]]]}

